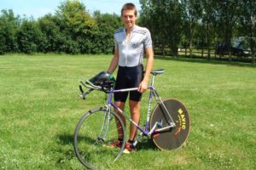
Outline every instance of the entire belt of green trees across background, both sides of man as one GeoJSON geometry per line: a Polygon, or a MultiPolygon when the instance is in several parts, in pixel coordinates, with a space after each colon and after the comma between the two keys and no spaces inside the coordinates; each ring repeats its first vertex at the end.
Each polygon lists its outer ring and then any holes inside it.
{"type": "MultiPolygon", "coordinates": [[[[140,4],[138,25],[148,27],[154,47],[164,55],[166,48],[177,55],[178,46],[189,47],[190,54],[192,48],[201,47],[208,48],[209,59],[210,48],[217,42],[230,46],[234,37],[247,37],[255,61],[253,0],[140,0],[140,4]]],[[[12,10],[2,10],[0,54],[111,54],[113,31],[121,26],[119,15],[99,11],[90,14],[79,0],[65,0],[55,14],[38,20],[20,19],[12,10]]]]}

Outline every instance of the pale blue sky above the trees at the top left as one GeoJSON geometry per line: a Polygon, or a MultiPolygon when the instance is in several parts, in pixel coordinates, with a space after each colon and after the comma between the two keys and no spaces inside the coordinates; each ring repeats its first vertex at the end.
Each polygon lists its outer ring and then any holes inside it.
{"type": "MultiPolygon", "coordinates": [[[[60,6],[61,2],[65,0],[0,0],[0,10],[12,9],[15,15],[21,17],[33,16],[38,19],[44,16],[44,14],[55,14],[55,10],[60,6]]],[[[84,3],[90,14],[94,11],[100,10],[102,14],[120,14],[120,10],[124,3],[134,3],[137,6],[137,10],[140,10],[139,0],[80,0],[84,3]]]]}

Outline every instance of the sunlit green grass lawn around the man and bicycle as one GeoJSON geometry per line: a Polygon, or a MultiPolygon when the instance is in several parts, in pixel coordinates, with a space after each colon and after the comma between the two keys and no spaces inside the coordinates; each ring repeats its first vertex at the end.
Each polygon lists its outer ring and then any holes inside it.
{"type": "MultiPolygon", "coordinates": [[[[84,112],[103,104],[104,94],[79,99],[78,80],[107,70],[110,60],[110,55],[0,56],[0,169],[83,168],[74,156],[73,130],[84,112]]],[[[143,142],[113,169],[255,169],[255,66],[157,58],[158,68],[165,69],[156,80],[161,96],[180,99],[189,109],[189,139],[171,151],[143,142]]]]}

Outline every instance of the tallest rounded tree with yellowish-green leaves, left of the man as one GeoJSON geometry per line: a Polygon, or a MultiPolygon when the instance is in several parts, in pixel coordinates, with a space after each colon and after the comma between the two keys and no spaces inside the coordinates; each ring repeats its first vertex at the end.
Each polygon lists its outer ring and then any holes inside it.
{"type": "Polygon", "coordinates": [[[68,54],[89,53],[92,39],[91,34],[96,22],[86,11],[79,0],[61,3],[56,10],[58,26],[61,34],[61,50],[68,54]]]}

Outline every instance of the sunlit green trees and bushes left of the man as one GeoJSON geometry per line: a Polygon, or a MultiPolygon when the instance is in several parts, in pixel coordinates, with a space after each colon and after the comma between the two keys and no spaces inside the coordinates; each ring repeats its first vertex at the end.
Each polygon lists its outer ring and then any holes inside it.
{"type": "Polygon", "coordinates": [[[67,0],[38,20],[0,15],[0,54],[10,52],[111,54],[113,31],[122,26],[116,14],[90,15],[79,0],[67,0]]]}

